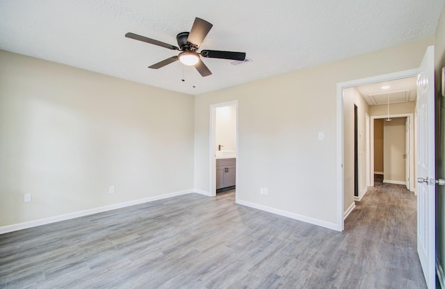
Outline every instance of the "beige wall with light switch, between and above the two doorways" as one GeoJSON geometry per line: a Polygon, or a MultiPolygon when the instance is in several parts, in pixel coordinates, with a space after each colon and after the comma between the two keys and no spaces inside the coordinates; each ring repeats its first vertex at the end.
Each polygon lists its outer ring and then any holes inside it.
{"type": "Polygon", "coordinates": [[[238,200],[336,224],[337,83],[419,67],[430,44],[412,42],[197,95],[195,188],[210,192],[209,106],[238,100],[238,200]]]}

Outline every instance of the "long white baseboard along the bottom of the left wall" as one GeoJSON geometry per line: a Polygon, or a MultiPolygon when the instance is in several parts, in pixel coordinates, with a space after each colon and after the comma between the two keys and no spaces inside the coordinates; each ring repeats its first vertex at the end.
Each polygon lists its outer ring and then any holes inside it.
{"type": "Polygon", "coordinates": [[[23,229],[29,229],[29,228],[32,228],[35,226],[42,226],[42,225],[51,224],[51,223],[55,223],[55,222],[70,220],[70,219],[74,219],[76,217],[85,217],[88,215],[103,213],[108,210],[115,210],[118,208],[125,208],[125,207],[129,207],[129,206],[149,203],[150,201],[158,201],[160,199],[177,197],[180,195],[190,194],[192,192],[195,192],[195,190],[193,190],[193,189],[181,190],[179,192],[170,192],[170,193],[164,194],[164,195],[146,197],[143,199],[135,199],[133,201],[124,201],[123,203],[119,203],[119,204],[102,206],[102,207],[98,207],[98,208],[90,208],[88,210],[79,210],[78,212],[72,212],[72,213],[67,213],[67,214],[63,214],[63,215],[56,215],[54,217],[46,217],[44,219],[33,220],[33,221],[29,221],[29,222],[12,224],[12,225],[8,225],[8,226],[0,226],[0,234],[9,233],[9,232],[13,232],[13,231],[19,231],[19,230],[23,230],[23,229]]]}

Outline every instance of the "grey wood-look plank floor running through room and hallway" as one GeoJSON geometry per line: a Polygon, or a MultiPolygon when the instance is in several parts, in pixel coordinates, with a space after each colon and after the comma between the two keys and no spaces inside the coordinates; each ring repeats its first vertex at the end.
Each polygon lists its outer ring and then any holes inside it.
{"type": "Polygon", "coordinates": [[[0,288],[426,288],[416,198],[376,183],[343,233],[190,194],[0,235],[0,288]]]}

